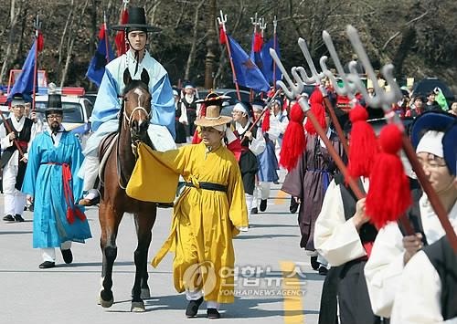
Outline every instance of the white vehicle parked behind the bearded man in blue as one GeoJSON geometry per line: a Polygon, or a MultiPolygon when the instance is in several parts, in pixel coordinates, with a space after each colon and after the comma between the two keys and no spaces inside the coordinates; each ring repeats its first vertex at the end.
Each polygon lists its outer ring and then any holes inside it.
{"type": "MultiPolygon", "coordinates": [[[[48,95],[37,96],[35,107],[37,109],[46,108],[48,103],[48,95]]],[[[62,106],[64,111],[62,124],[65,130],[71,131],[80,139],[81,146],[84,148],[86,141],[90,136],[90,115],[93,110],[93,105],[89,99],[75,96],[62,96],[62,106]]],[[[45,120],[44,114],[38,113],[38,118],[41,118],[45,129],[48,127],[48,122],[45,120]]]]}

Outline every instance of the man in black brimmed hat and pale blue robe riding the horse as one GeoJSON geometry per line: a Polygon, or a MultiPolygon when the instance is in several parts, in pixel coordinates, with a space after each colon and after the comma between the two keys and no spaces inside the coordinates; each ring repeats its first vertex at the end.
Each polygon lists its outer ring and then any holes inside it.
{"type": "Polygon", "coordinates": [[[173,89],[165,68],[151,57],[146,50],[148,32],[158,32],[159,28],[146,24],[144,9],[129,9],[127,24],[112,26],[114,30],[124,30],[130,49],[121,57],[112,60],[106,68],[94,110],[90,117],[92,135],[84,150],[85,160],[79,173],[84,178],[84,191],[87,193],[80,200],[82,205],[96,204],[100,193],[94,189],[99,174],[99,157],[97,148],[101,139],[112,131],[117,131],[121,101],[119,99],[125,88],[123,72],[127,68],[133,79],[141,78],[143,68],[149,74],[149,92],[151,93],[151,119],[148,134],[154,149],[166,151],[175,148],[175,101],[173,89]]]}

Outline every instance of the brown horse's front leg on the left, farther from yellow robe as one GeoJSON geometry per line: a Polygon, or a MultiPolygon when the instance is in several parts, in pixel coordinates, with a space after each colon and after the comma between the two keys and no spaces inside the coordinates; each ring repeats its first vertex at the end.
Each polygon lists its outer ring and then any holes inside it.
{"type": "Polygon", "coordinates": [[[121,223],[122,213],[116,213],[112,204],[102,203],[99,210],[101,225],[101,291],[99,303],[103,308],[109,308],[114,302],[112,296],[112,266],[117,256],[116,236],[121,223]]]}

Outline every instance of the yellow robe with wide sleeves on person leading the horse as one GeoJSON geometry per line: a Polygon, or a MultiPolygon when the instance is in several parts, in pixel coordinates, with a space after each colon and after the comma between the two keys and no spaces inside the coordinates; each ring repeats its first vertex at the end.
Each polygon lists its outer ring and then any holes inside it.
{"type": "Polygon", "coordinates": [[[165,188],[164,183],[177,184],[177,174],[196,187],[199,182],[227,186],[227,193],[185,187],[175,204],[171,234],[152,265],[157,267],[168,251],[175,251],[173,275],[178,292],[203,289],[206,300],[233,302],[232,238],[239,234],[237,227],[248,226],[243,184],[233,153],[224,146],[207,152],[204,143],[168,152],[141,145],[139,153],[137,166],[143,172],[136,167],[133,171],[129,185],[134,189],[128,190],[133,198],[136,194],[142,200],[166,201],[176,187],[165,188]],[[154,177],[145,178],[152,174],[154,177]]]}

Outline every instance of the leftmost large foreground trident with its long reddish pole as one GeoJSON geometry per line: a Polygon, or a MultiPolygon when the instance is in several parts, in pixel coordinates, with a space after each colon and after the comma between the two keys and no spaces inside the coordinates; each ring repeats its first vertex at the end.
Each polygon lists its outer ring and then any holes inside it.
{"type": "Polygon", "coordinates": [[[343,160],[341,160],[341,157],[335,151],[334,146],[328,140],[327,135],[325,134],[325,131],[323,130],[323,128],[321,127],[319,122],[316,120],[313,111],[310,110],[310,106],[308,105],[307,100],[303,99],[303,97],[301,96],[302,91],[303,91],[303,80],[301,78],[298,78],[297,83],[294,83],[292,81],[291,77],[289,77],[287,70],[282,65],[281,59],[278,57],[278,55],[276,54],[276,51],[273,48],[270,48],[270,55],[273,58],[273,60],[276,62],[276,65],[278,66],[278,68],[281,69],[282,76],[286,80],[290,89],[284,82],[282,82],[282,80],[278,80],[277,84],[281,87],[282,91],[284,91],[284,93],[286,94],[287,97],[289,97],[289,99],[297,99],[297,102],[300,104],[300,107],[306,114],[306,117],[309,120],[311,120],[311,122],[314,125],[315,130],[317,131],[317,134],[319,135],[321,140],[324,141],[325,147],[327,148],[327,151],[334,159],[336,166],[345,176],[345,179],[347,180],[347,183],[351,187],[352,191],[354,193],[356,193],[356,196],[358,199],[363,198],[365,196],[364,193],[362,193],[362,191],[357,186],[354,179],[347,172],[345,163],[343,162],[343,160]]]}

